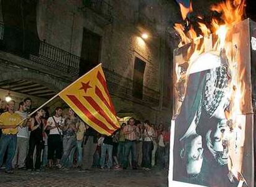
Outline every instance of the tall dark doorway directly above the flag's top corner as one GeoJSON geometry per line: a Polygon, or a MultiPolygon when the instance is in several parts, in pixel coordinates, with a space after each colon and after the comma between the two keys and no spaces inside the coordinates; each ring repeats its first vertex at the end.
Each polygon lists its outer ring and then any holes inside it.
{"type": "Polygon", "coordinates": [[[79,74],[87,73],[100,63],[101,36],[83,28],[79,74]]]}

